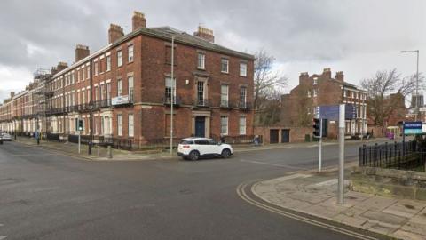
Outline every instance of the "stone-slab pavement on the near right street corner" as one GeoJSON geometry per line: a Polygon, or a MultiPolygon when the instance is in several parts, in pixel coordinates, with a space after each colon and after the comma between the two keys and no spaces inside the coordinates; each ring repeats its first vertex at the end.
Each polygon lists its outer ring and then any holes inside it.
{"type": "Polygon", "coordinates": [[[346,188],[344,204],[337,204],[336,176],[335,170],[297,172],[259,181],[251,191],[269,204],[320,220],[397,239],[426,239],[426,202],[373,196],[346,188]]]}

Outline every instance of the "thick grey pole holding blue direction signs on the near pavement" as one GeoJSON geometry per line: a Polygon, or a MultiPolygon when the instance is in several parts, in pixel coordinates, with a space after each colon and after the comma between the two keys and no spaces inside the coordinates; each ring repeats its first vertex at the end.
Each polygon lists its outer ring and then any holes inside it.
{"type": "Polygon", "coordinates": [[[343,186],[344,186],[344,104],[339,107],[339,179],[337,189],[337,203],[343,204],[343,186]]]}

